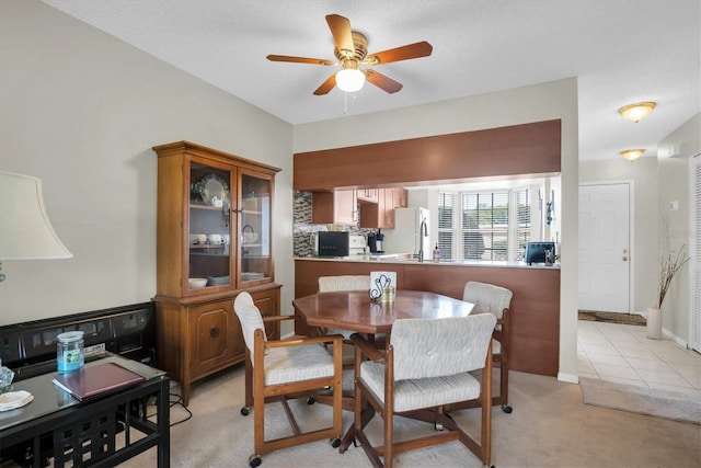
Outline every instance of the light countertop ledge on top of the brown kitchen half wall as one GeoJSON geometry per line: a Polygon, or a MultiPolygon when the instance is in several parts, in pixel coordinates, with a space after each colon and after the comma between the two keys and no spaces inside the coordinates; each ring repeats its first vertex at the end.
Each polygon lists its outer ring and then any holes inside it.
{"type": "Polygon", "coordinates": [[[401,263],[403,265],[450,265],[450,266],[496,266],[508,269],[547,269],[560,270],[560,263],[554,265],[533,264],[528,265],[525,262],[505,261],[505,260],[463,260],[461,262],[440,261],[438,263],[433,260],[418,260],[412,258],[410,253],[382,253],[382,254],[357,254],[348,256],[297,256],[295,260],[314,261],[314,262],[370,262],[370,263],[401,263]]]}

